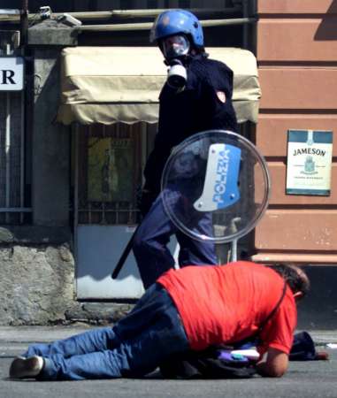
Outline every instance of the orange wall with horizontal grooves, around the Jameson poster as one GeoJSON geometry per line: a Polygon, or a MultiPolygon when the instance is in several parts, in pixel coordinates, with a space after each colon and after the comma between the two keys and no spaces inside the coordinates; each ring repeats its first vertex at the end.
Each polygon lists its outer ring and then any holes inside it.
{"type": "Polygon", "coordinates": [[[272,177],[257,261],[337,262],[337,1],[258,0],[257,147],[272,177]],[[333,130],[330,196],[286,195],[287,130],[333,130]]]}

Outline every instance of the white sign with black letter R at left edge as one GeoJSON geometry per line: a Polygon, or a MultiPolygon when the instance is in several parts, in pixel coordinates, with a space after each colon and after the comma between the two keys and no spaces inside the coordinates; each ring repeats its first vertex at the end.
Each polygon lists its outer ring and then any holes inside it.
{"type": "Polygon", "coordinates": [[[23,86],[23,57],[0,57],[0,91],[20,91],[23,86]]]}

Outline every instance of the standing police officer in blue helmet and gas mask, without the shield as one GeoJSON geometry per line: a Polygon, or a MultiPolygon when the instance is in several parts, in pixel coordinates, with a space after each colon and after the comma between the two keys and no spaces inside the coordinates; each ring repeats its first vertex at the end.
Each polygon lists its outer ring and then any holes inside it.
{"type": "MultiPolygon", "coordinates": [[[[194,241],[173,226],[160,197],[162,172],[174,146],[211,129],[237,131],[232,103],[233,72],[210,59],[203,46],[203,28],[189,11],[164,11],[154,22],[150,42],[157,42],[168,65],[159,96],[158,131],[145,166],[142,225],[134,236],[134,256],[145,288],[174,266],[166,244],[172,234],[180,243],[179,264],[217,264],[214,244],[194,241]]],[[[199,229],[210,231],[209,218],[199,229]]]]}

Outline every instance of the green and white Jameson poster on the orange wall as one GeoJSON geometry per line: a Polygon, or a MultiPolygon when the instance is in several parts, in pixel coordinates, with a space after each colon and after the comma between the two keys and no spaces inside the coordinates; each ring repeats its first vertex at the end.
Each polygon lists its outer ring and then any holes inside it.
{"type": "Polygon", "coordinates": [[[287,195],[330,195],[333,132],[288,130],[287,195]]]}

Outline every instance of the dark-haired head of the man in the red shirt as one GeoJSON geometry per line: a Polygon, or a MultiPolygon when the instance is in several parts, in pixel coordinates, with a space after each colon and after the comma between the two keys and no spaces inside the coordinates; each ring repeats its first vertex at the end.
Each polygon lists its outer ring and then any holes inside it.
{"type": "Polygon", "coordinates": [[[268,267],[286,280],[293,293],[301,292],[303,296],[308,294],[310,281],[303,269],[294,264],[274,264],[268,267]]]}

